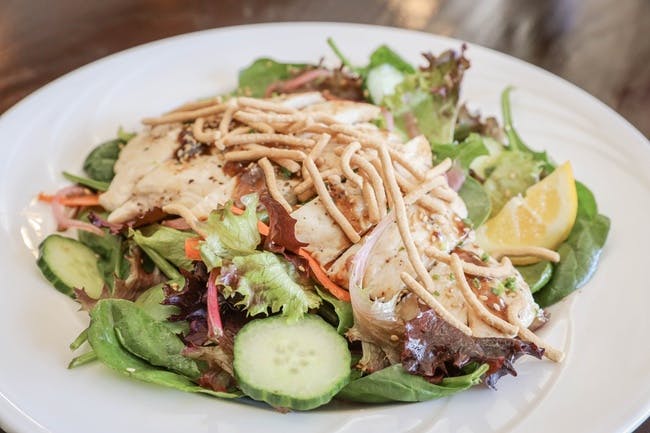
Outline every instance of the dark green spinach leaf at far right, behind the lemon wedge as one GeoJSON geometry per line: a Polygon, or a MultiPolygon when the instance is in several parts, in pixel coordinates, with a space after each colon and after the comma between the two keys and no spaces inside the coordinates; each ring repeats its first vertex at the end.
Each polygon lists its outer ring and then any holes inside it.
{"type": "Polygon", "coordinates": [[[576,182],[578,215],[571,233],[560,248],[560,262],[555,266],[551,281],[535,294],[541,307],[547,307],[582,287],[596,272],[610,220],[598,213],[596,201],[589,189],[576,182]]]}

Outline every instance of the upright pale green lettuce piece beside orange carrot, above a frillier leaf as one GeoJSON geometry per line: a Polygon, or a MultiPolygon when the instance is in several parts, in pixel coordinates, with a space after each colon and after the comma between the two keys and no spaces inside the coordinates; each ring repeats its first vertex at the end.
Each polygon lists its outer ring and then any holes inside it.
{"type": "Polygon", "coordinates": [[[241,215],[232,212],[232,202],[212,211],[202,229],[207,233],[199,250],[208,269],[221,266],[223,259],[255,252],[261,242],[257,230],[257,195],[241,198],[246,210],[241,215]]]}

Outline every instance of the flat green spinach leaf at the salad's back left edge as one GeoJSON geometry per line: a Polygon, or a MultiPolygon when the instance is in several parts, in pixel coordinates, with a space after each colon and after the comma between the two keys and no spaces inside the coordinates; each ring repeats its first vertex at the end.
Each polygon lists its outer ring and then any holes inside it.
{"type": "Polygon", "coordinates": [[[240,95],[262,98],[266,89],[276,81],[286,80],[301,69],[305,64],[279,63],[273,59],[261,58],[239,72],[237,93],[240,95]]]}

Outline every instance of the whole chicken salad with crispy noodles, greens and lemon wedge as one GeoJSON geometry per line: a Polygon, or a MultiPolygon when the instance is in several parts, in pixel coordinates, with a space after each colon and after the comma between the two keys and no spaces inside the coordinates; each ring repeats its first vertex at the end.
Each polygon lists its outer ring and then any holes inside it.
{"type": "Polygon", "coordinates": [[[465,48],[416,67],[255,60],[230,94],[121,129],[39,199],[37,265],[89,313],[70,345],[138,380],[280,410],[496,388],[596,270],[593,194],[460,102],[465,48]]]}

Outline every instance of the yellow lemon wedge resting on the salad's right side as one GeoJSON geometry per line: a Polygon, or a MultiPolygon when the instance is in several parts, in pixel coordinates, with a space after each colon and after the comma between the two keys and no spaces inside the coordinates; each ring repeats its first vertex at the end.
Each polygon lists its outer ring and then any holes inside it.
{"type": "MultiPolygon", "coordinates": [[[[578,194],[571,164],[565,162],[553,173],[511,198],[493,218],[476,231],[486,251],[512,247],[544,247],[552,250],[564,241],[576,220],[578,194]]],[[[515,264],[539,261],[513,257],[515,264]]]]}

